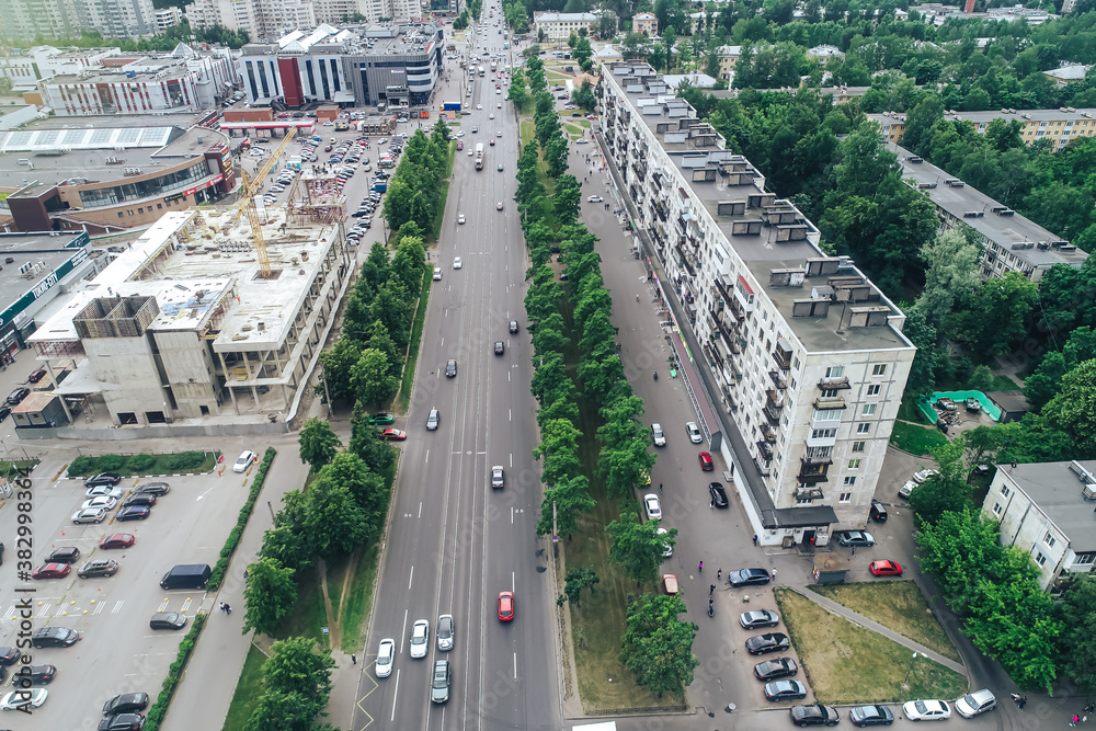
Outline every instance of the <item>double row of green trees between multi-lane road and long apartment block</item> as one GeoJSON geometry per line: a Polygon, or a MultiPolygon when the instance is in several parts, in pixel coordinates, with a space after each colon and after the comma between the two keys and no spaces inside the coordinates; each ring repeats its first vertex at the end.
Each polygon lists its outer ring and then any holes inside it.
{"type": "MultiPolygon", "coordinates": [[[[536,108],[535,136],[522,150],[514,197],[530,259],[525,307],[533,330],[532,392],[539,404],[541,438],[533,454],[541,462],[546,486],[537,533],[570,535],[580,516],[595,505],[590,480],[596,477],[620,507],[620,517],[607,526],[613,538],[609,561],[639,587],[650,589],[677,532],[659,534],[659,521],[638,519],[635,489],[649,483],[655,460],[641,421],[643,401],[632,392],[617,354],[613,300],[594,251],[597,239],[579,221],[581,189],[567,173],[567,140],[539,58],[529,60],[526,78],[536,108]],[[544,179],[538,172],[541,161],[544,179]],[[566,263],[566,285],[550,265],[553,252],[566,263]],[[568,354],[573,352],[578,365],[572,375],[568,354]],[[584,471],[579,457],[580,400],[600,416],[594,475],[584,471]]],[[[595,568],[573,567],[558,602],[578,606],[583,590],[595,591],[598,581],[595,568]]],[[[631,597],[627,607],[620,660],[640,685],[660,695],[681,695],[698,664],[692,653],[693,626],[678,619],[683,612],[680,596],[650,592],[631,597]]]]}

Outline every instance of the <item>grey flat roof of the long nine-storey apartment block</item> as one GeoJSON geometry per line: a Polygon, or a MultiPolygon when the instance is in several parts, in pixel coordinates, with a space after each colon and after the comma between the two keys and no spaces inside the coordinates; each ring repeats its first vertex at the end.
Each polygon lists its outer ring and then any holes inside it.
{"type": "MultiPolygon", "coordinates": [[[[616,72],[620,68],[646,68],[650,73],[648,79],[655,82],[651,87],[652,89],[658,89],[659,84],[662,83],[661,78],[655,76],[647,64],[614,64],[612,66],[614,67],[614,71],[607,76],[612,77],[613,83],[620,87],[621,90],[624,90],[624,85],[620,83],[623,75],[616,72]]],[[[763,210],[762,208],[747,207],[741,215],[720,216],[718,214],[719,204],[749,201],[751,195],[764,194],[764,178],[761,173],[744,157],[734,155],[721,146],[698,147],[687,139],[684,142],[667,142],[665,133],[658,132],[660,124],[669,124],[673,132],[677,132],[680,119],[695,118],[695,111],[685,100],[676,99],[669,93],[652,94],[646,87],[643,91],[626,91],[625,98],[631,106],[635,118],[642,121],[650,128],[655,139],[660,141],[663,149],[669,153],[671,163],[677,168],[685,179],[687,191],[684,192],[688,199],[704,206],[708,212],[722,236],[745,263],[746,267],[749,267],[757,284],[765,292],[765,295],[773,301],[777,310],[779,310],[788,328],[810,352],[912,347],[910,341],[891,327],[841,328],[841,302],[834,302],[831,306],[829,317],[792,317],[791,308],[794,300],[810,298],[811,287],[824,284],[825,277],[806,279],[804,286],[781,287],[770,285],[772,273],[775,270],[801,269],[808,259],[825,258],[827,255],[814,245],[810,239],[777,241],[779,229],[773,225],[762,226],[760,233],[740,235],[732,232],[735,221],[761,221],[763,210]],[[732,180],[731,178],[723,178],[717,174],[712,182],[693,182],[694,170],[710,169],[709,163],[716,161],[733,167],[737,172],[752,173],[752,179],[747,183],[733,183],[729,182],[732,180]],[[758,184],[758,181],[762,181],[762,183],[758,184]]],[[[712,134],[718,137],[715,130],[712,130],[712,134]]],[[[719,137],[719,142],[720,145],[722,144],[721,137],[719,137]]],[[[790,203],[787,206],[794,208],[790,203]]],[[[796,219],[798,225],[808,228],[809,235],[818,236],[818,229],[814,225],[807,220],[798,210],[796,210],[796,219]]],[[[673,221],[670,221],[670,225],[674,225],[673,221]]],[[[716,248],[722,247],[722,242],[718,240],[710,243],[716,248]]],[[[837,275],[863,276],[855,267],[843,267],[837,275]]],[[[867,277],[864,278],[866,282],[869,282],[867,277]]],[[[706,282],[700,283],[699,286],[706,286],[707,284],[706,282]]],[[[733,283],[730,284],[733,287],[733,283]]],[[[871,289],[878,293],[878,288],[875,285],[871,285],[871,289]]],[[[901,317],[901,311],[889,299],[881,294],[879,294],[879,300],[869,302],[857,302],[856,306],[882,305],[888,307],[891,315],[901,317]]]]}

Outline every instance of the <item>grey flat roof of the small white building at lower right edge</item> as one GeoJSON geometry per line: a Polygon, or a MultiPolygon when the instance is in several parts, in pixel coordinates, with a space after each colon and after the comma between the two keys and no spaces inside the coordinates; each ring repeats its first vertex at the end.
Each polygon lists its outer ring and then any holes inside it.
{"type": "MultiPolygon", "coordinates": [[[[1077,552],[1096,551],[1096,513],[1094,503],[1085,500],[1082,480],[1072,466],[1075,462],[1039,462],[997,467],[1016,483],[1038,509],[1070,538],[1070,548],[1077,552]]],[[[1096,460],[1076,462],[1096,473],[1096,460]]]]}

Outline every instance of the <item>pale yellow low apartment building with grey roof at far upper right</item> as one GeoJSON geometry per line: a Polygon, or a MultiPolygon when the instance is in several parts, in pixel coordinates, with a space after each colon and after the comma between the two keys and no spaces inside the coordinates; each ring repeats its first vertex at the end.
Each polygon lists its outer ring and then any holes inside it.
{"type": "MultiPolygon", "coordinates": [[[[898,112],[869,114],[878,122],[887,136],[887,141],[902,144],[905,134],[905,115],[898,112]]],[[[994,119],[1019,122],[1020,139],[1027,145],[1040,139],[1049,139],[1057,152],[1077,137],[1096,135],[1096,108],[1078,110],[1063,106],[1059,110],[989,110],[986,112],[948,111],[945,119],[970,122],[975,132],[984,135],[994,119]]]]}

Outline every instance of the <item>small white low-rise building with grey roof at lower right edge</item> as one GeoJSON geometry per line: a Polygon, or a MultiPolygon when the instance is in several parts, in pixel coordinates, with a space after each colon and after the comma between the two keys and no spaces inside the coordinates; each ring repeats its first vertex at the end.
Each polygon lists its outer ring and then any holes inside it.
{"type": "Polygon", "coordinates": [[[1096,564],[1096,461],[1002,465],[982,514],[1001,523],[1001,542],[1027,551],[1039,585],[1054,590],[1096,564]]]}

